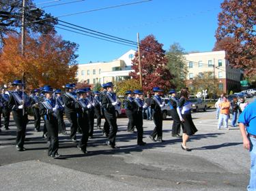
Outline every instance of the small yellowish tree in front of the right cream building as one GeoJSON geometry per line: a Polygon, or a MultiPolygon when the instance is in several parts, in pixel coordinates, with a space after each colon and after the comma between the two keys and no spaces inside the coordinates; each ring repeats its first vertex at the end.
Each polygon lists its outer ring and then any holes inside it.
{"type": "Polygon", "coordinates": [[[195,94],[202,90],[207,90],[210,97],[214,94],[221,94],[221,90],[218,89],[218,80],[214,79],[212,71],[205,71],[202,74],[195,76],[192,86],[195,94]]]}

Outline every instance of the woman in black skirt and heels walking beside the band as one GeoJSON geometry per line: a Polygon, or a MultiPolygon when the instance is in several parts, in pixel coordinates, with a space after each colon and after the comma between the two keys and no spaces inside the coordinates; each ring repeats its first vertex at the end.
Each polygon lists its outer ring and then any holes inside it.
{"type": "Polygon", "coordinates": [[[186,147],[186,142],[190,135],[194,135],[197,132],[197,128],[193,123],[191,116],[191,105],[192,103],[188,99],[189,91],[188,88],[182,88],[180,92],[180,101],[177,107],[177,114],[179,114],[180,121],[182,122],[182,150],[191,151],[186,147]]]}

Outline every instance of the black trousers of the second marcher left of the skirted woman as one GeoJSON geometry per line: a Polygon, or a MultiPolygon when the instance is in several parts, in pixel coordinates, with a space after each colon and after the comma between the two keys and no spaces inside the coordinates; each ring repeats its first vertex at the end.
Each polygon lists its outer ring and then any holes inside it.
{"type": "Polygon", "coordinates": [[[155,128],[151,134],[152,137],[156,137],[157,139],[162,139],[162,112],[154,111],[152,112],[155,128]]]}

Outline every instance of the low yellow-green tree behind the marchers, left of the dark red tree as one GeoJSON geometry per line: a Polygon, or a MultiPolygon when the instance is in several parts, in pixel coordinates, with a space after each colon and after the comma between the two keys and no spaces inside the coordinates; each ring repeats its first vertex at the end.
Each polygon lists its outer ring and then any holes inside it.
{"type": "Polygon", "coordinates": [[[139,80],[123,80],[116,83],[115,92],[117,92],[117,95],[124,95],[127,90],[141,90],[139,80]]]}

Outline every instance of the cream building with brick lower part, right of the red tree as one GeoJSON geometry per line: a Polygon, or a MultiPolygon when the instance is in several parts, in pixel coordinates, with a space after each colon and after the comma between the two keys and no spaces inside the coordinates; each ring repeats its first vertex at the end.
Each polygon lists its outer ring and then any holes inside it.
{"type": "Polygon", "coordinates": [[[197,75],[202,75],[205,71],[212,71],[218,79],[218,88],[229,93],[231,90],[240,90],[240,80],[242,72],[229,66],[225,60],[225,51],[198,52],[184,55],[188,60],[187,86],[191,86],[193,79],[197,75]]]}

